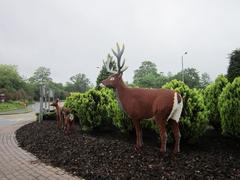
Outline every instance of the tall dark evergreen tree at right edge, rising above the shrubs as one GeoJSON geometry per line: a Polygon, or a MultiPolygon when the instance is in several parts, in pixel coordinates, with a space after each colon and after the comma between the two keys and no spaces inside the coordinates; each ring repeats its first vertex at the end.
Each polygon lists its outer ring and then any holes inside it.
{"type": "Polygon", "coordinates": [[[232,82],[236,77],[239,76],[240,76],[240,49],[236,49],[230,54],[227,78],[230,82],[232,82]]]}

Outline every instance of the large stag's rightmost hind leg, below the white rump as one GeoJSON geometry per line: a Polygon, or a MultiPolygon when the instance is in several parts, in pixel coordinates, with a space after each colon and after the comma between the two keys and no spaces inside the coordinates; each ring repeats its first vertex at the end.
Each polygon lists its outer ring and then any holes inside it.
{"type": "Polygon", "coordinates": [[[173,131],[173,135],[174,135],[174,139],[175,139],[175,144],[174,144],[174,150],[173,153],[179,153],[180,152],[180,139],[181,139],[181,134],[180,134],[180,130],[179,130],[179,124],[177,121],[175,121],[174,119],[169,119],[169,122],[171,124],[172,127],[172,131],[173,131]]]}

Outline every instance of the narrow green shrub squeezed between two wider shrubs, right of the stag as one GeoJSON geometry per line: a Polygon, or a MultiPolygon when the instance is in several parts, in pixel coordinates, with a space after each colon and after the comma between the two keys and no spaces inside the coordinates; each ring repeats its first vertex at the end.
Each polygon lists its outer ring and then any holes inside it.
{"type": "Polygon", "coordinates": [[[217,131],[221,131],[220,112],[218,111],[218,98],[227,85],[228,80],[224,75],[219,75],[214,83],[211,83],[204,90],[204,101],[209,111],[209,123],[217,131]]]}

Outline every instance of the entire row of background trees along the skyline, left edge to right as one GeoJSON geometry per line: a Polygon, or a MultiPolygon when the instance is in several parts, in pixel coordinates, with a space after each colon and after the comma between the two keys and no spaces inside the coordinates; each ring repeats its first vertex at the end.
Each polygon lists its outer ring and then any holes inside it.
{"type": "MultiPolygon", "coordinates": [[[[240,76],[240,49],[234,50],[229,55],[229,59],[226,77],[232,82],[235,77],[240,76]]],[[[110,66],[115,69],[115,62],[111,61],[110,66]]],[[[103,64],[96,80],[96,87],[109,75],[103,64]]],[[[134,71],[133,82],[128,84],[133,87],[160,88],[173,79],[182,80],[182,75],[184,75],[184,83],[190,88],[203,89],[211,82],[206,72],[200,74],[195,68],[186,68],[176,74],[169,72],[165,75],[158,71],[155,63],[147,60],[134,71]]],[[[18,73],[16,65],[0,64],[0,93],[4,93],[10,100],[39,100],[41,84],[52,89],[55,97],[60,99],[65,99],[70,92],[85,92],[93,87],[89,78],[83,73],[73,75],[69,80],[65,84],[54,82],[50,69],[46,67],[39,67],[31,77],[23,78],[18,73]]]]}

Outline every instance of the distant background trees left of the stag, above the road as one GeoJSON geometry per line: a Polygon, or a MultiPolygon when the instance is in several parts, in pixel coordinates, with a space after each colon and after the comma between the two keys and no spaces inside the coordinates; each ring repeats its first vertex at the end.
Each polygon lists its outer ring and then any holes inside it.
{"type": "Polygon", "coordinates": [[[38,101],[41,85],[52,89],[54,96],[60,99],[65,99],[70,92],[85,92],[92,87],[85,74],[78,73],[63,84],[54,82],[50,69],[46,67],[39,67],[30,78],[23,78],[17,66],[0,64],[0,93],[5,94],[7,100],[38,101]]]}

